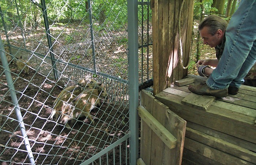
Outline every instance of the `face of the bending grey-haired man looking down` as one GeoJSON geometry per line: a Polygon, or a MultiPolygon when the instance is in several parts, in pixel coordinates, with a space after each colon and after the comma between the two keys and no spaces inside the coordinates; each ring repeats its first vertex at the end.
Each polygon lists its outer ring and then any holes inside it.
{"type": "Polygon", "coordinates": [[[208,31],[208,27],[203,27],[203,29],[200,30],[199,33],[203,39],[203,43],[209,45],[210,47],[216,47],[222,42],[223,39],[221,30],[218,30],[216,34],[212,36],[208,31]]]}

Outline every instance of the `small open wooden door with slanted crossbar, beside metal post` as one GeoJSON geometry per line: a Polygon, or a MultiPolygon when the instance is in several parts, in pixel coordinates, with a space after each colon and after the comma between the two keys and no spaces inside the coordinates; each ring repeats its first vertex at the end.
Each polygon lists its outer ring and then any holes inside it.
{"type": "Polygon", "coordinates": [[[140,157],[138,164],[181,164],[186,121],[142,90],[140,157]]]}

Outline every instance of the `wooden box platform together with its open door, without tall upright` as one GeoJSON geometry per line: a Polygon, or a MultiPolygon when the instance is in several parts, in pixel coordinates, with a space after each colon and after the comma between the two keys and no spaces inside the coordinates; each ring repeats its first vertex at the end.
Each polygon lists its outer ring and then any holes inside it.
{"type": "Polygon", "coordinates": [[[256,88],[242,85],[237,95],[215,98],[193,94],[188,85],[170,86],[155,97],[142,91],[137,164],[175,165],[181,158],[183,165],[256,164],[256,88]]]}

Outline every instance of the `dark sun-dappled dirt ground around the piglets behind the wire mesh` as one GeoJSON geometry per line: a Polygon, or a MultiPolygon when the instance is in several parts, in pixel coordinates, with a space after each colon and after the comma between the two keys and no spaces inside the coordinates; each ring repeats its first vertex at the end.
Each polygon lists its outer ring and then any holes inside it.
{"type": "MultiPolygon", "coordinates": [[[[69,131],[63,125],[48,120],[62,87],[32,70],[29,75],[22,72],[17,79],[19,71],[16,64],[11,63],[9,67],[13,72],[12,80],[36,164],[80,164],[128,133],[127,107],[110,105],[107,101],[101,101],[101,107],[91,111],[95,127],[89,120],[79,118],[69,131]]],[[[1,165],[29,163],[2,67],[0,73],[0,162],[1,165]]],[[[114,153],[109,152],[108,158],[102,156],[101,164],[107,161],[113,164],[113,157],[119,164],[120,155],[121,164],[125,164],[126,159],[129,162],[128,145],[124,142],[115,148],[114,153]]],[[[99,164],[99,160],[94,164],[99,164]]]]}

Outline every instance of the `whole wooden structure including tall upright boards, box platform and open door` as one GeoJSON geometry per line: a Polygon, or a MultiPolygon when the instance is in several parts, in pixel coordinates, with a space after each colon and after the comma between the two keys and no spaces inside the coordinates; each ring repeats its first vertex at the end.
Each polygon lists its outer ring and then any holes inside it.
{"type": "Polygon", "coordinates": [[[188,85],[206,80],[187,76],[179,60],[180,50],[184,66],[189,59],[193,0],[151,3],[154,96],[141,94],[137,164],[256,164],[256,88],[218,99],[192,94],[188,85]]]}

